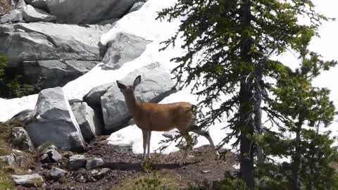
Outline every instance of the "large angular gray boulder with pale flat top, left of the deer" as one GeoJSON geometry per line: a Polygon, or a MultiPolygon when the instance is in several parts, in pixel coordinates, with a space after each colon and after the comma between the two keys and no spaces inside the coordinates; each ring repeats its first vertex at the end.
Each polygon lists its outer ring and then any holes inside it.
{"type": "Polygon", "coordinates": [[[39,93],[35,121],[26,130],[35,146],[47,142],[63,150],[84,151],[84,139],[61,87],[39,93]]]}

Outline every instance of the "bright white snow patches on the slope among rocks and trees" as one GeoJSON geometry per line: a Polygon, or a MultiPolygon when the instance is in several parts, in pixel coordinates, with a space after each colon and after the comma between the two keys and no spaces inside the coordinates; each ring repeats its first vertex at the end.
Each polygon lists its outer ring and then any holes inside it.
{"type": "MultiPolygon", "coordinates": [[[[82,99],[82,97],[87,94],[93,87],[105,84],[107,82],[113,82],[115,80],[120,80],[125,77],[127,73],[132,72],[133,70],[140,68],[144,65],[154,63],[155,61],[160,62],[166,68],[174,68],[175,64],[170,63],[170,58],[178,56],[181,53],[184,53],[184,50],[180,49],[180,41],[177,42],[177,46],[174,49],[167,49],[165,51],[159,52],[163,45],[160,45],[165,39],[173,36],[177,31],[177,27],[180,25],[180,20],[173,20],[173,23],[160,22],[155,20],[157,16],[157,11],[160,11],[161,8],[173,6],[176,0],[149,0],[139,11],[134,11],[124,18],[118,21],[118,23],[106,34],[102,35],[101,43],[106,44],[111,39],[115,37],[115,34],[118,32],[127,32],[134,34],[139,37],[144,37],[153,41],[152,43],[146,46],[146,51],[142,53],[142,56],[131,61],[130,63],[125,63],[118,70],[101,70],[101,65],[97,65],[87,74],[79,77],[77,80],[69,82],[63,87],[68,99],[82,99]]],[[[325,13],[330,17],[337,17],[338,12],[336,7],[338,2],[330,2],[327,4],[325,1],[315,0],[315,4],[318,5],[318,11],[325,13]],[[335,6],[334,6],[335,4],[335,6]]],[[[321,35],[320,39],[313,40],[311,48],[314,51],[318,51],[327,59],[336,59],[338,60],[337,54],[337,44],[338,39],[336,33],[338,30],[337,22],[323,23],[323,26],[320,27],[319,33],[321,35]]],[[[285,53],[283,56],[280,56],[280,61],[289,63],[290,66],[294,67],[296,58],[292,53],[285,53]]],[[[332,90],[332,100],[338,105],[338,86],[335,84],[335,75],[338,75],[338,68],[330,70],[329,72],[323,73],[318,79],[313,83],[318,87],[328,87],[332,90]]],[[[27,108],[35,108],[35,103],[37,101],[37,95],[26,96],[21,99],[0,99],[0,121],[6,121],[11,118],[13,115],[18,113],[20,110],[27,108]]],[[[193,96],[189,89],[184,89],[179,91],[176,94],[172,94],[165,98],[161,103],[170,103],[175,101],[189,101],[196,103],[196,96],[193,96]]],[[[337,106],[338,107],[338,106],[337,106]]],[[[221,129],[224,127],[225,123],[217,123],[211,127],[211,137],[215,141],[215,144],[218,144],[223,137],[225,137],[225,131],[221,129]]],[[[334,134],[337,132],[337,122],[330,127],[334,134]]],[[[151,136],[151,150],[154,151],[158,148],[158,142],[164,137],[161,135],[162,132],[153,132],[151,136]]],[[[134,153],[142,153],[142,132],[135,125],[130,127],[125,127],[118,132],[115,132],[109,138],[111,144],[132,144],[134,153]]],[[[198,139],[197,146],[208,144],[208,141],[204,137],[198,139]]],[[[225,148],[230,148],[230,145],[225,145],[225,148]]],[[[174,144],[166,149],[166,153],[170,151],[177,151],[177,148],[174,144]]]]}

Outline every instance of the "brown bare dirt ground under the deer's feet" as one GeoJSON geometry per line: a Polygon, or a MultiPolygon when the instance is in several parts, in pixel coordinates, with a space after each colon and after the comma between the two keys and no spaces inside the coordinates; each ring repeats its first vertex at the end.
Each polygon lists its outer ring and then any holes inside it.
{"type": "MultiPolygon", "coordinates": [[[[142,158],[132,153],[130,146],[112,146],[107,144],[105,138],[100,137],[92,141],[89,144],[89,151],[84,155],[87,158],[102,158],[105,162],[102,167],[112,170],[108,175],[96,181],[92,177],[91,170],[69,171],[60,182],[47,181],[46,189],[119,189],[116,186],[121,183],[121,180],[134,179],[146,174],[141,166],[142,158]]],[[[223,179],[226,170],[234,170],[232,165],[236,164],[236,159],[234,154],[226,153],[225,150],[221,150],[220,153],[222,158],[214,160],[210,146],[194,148],[187,164],[183,166],[178,164],[180,153],[153,154],[152,171],[172,176],[180,187],[204,179],[208,181],[223,179]]],[[[48,170],[51,165],[44,167],[48,170]]],[[[58,165],[58,167],[65,168],[65,165],[58,165]]]]}

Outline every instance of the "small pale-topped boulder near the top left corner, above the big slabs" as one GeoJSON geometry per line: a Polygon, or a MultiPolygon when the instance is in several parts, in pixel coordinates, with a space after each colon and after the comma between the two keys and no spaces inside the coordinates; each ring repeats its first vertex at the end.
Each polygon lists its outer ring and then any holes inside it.
{"type": "Polygon", "coordinates": [[[34,8],[31,5],[27,5],[25,8],[23,8],[23,20],[25,20],[27,23],[39,21],[52,23],[56,21],[56,17],[39,8],[34,8]]]}

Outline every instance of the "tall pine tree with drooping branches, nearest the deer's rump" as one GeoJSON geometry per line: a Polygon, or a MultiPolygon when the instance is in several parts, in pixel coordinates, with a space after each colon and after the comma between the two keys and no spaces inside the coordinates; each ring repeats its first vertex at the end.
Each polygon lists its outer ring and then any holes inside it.
{"type": "MultiPolygon", "coordinates": [[[[184,18],[179,31],[165,48],[175,46],[177,38],[184,39],[183,56],[173,58],[179,63],[177,81],[185,87],[193,84],[194,94],[204,96],[200,107],[210,108],[202,127],[209,126],[227,115],[232,129],[224,141],[237,138],[240,173],[246,185],[254,186],[254,156],[260,153],[255,139],[261,139],[260,108],[268,101],[270,84],[265,77],[276,77],[283,65],[273,64],[270,54],[294,49],[299,36],[309,29],[315,32],[324,15],[316,13],[311,0],[178,0],[175,6],[165,8],[158,18],[172,20],[184,18]],[[311,24],[299,25],[297,18],[304,15],[311,24]],[[202,56],[195,62],[196,56],[202,56]],[[184,72],[187,77],[183,77],[184,72]],[[214,103],[222,99],[219,107],[214,103]],[[256,114],[255,114],[256,113],[256,114]]],[[[273,110],[263,110],[272,118],[273,110]]],[[[261,157],[261,156],[260,156],[261,157]]],[[[260,158],[261,159],[261,158],[260,158]]]]}

